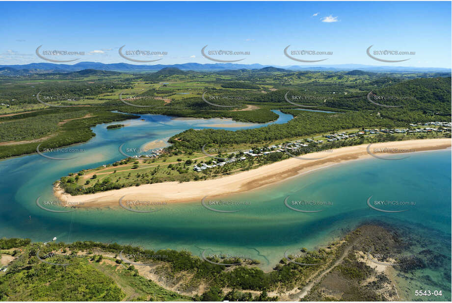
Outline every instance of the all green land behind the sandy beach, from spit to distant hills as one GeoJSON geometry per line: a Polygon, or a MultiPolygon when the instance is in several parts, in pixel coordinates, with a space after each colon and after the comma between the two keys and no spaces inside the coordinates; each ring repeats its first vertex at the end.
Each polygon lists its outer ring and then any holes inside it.
{"type": "MultiPolygon", "coordinates": [[[[0,101],[7,105],[0,106],[5,113],[0,115],[0,158],[36,152],[38,146],[40,151],[46,151],[85,142],[95,135],[92,126],[137,119],[138,115],[146,113],[267,123],[278,118],[271,110],[279,109],[294,117],[285,124],[237,131],[187,129],[172,136],[168,140],[172,145],[158,158],[138,155],[133,160],[124,159],[106,163],[106,167],[82,171],[80,176],[62,177],[59,186],[72,195],[141,184],[222,177],[289,157],[286,152],[272,152],[258,158],[246,156],[245,160],[196,172],[193,166],[212,165],[218,157],[228,154],[205,154],[203,146],[218,150],[253,150],[301,140],[308,146],[307,150],[325,150],[373,142],[450,137],[447,127],[445,131],[433,133],[366,133],[334,142],[327,142],[326,137],[339,130],[357,133],[365,128],[415,129],[410,125],[419,123],[421,126],[417,127],[422,127],[423,123],[432,121],[450,122],[451,77],[439,74],[299,72],[270,68],[191,72],[167,68],[140,75],[85,70],[43,74],[40,78],[36,75],[1,76],[0,83],[8,83],[0,94],[0,101]],[[375,105],[367,99],[371,91],[375,96],[403,97],[379,101],[386,102],[385,105],[403,106],[375,105]],[[46,106],[37,100],[38,92],[41,100],[49,97],[44,100],[49,104],[69,107],[46,106]],[[203,101],[204,93],[209,102],[231,107],[203,101]],[[149,107],[125,104],[120,95],[128,103],[149,107]],[[333,112],[299,110],[300,106],[286,101],[287,96],[301,106],[318,105],[316,109],[333,112]],[[290,96],[312,98],[297,100],[290,96]],[[25,111],[14,113],[21,108],[25,111]]],[[[124,125],[106,127],[120,126],[124,125]]],[[[293,154],[297,155],[297,152],[293,154]]],[[[243,152],[235,155],[244,156],[243,152]]]]}

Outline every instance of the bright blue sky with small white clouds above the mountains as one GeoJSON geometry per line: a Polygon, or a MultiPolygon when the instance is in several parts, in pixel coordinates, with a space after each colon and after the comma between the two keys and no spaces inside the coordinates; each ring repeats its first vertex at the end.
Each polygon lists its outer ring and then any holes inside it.
{"type": "Polygon", "coordinates": [[[249,55],[212,55],[243,64],[368,64],[451,68],[451,2],[0,2],[0,64],[48,62],[43,50],[84,51],[84,55],[47,57],[102,63],[131,62],[126,50],[166,51],[146,64],[215,63],[207,51],[249,51],[249,55]],[[329,51],[294,55],[290,51],[329,51]],[[375,55],[372,51],[414,51],[414,55],[375,55]]]}

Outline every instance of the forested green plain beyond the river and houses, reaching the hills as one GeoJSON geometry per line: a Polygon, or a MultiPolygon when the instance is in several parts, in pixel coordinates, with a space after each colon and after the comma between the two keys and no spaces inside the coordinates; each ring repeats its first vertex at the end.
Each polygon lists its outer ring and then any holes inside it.
{"type": "Polygon", "coordinates": [[[451,77],[446,73],[306,72],[274,68],[192,72],[165,68],[152,74],[96,70],[3,74],[0,84],[0,114],[4,114],[0,115],[0,124],[4,126],[0,131],[0,158],[35,152],[39,144],[41,148],[56,148],[84,142],[94,135],[90,127],[96,124],[133,119],[138,117],[133,114],[145,113],[232,118],[252,123],[276,120],[271,109],[295,116],[284,125],[236,132],[189,129],[170,139],[176,149],[193,151],[205,143],[264,144],[354,127],[403,127],[412,122],[451,121],[451,77]],[[386,105],[404,102],[401,104],[404,106],[387,108],[372,104],[367,100],[371,91],[381,96],[403,97],[406,100],[385,102],[386,105]],[[38,93],[48,104],[70,107],[40,103],[38,93]],[[231,107],[204,102],[201,98],[204,93],[206,98],[216,98],[210,99],[211,103],[231,107]],[[292,101],[319,105],[317,109],[336,113],[295,110],[299,106],[287,102],[286,94],[310,96],[292,101]],[[149,107],[127,105],[120,95],[128,96],[125,98],[129,103],[149,107]],[[254,106],[251,110],[250,105],[254,106]]]}

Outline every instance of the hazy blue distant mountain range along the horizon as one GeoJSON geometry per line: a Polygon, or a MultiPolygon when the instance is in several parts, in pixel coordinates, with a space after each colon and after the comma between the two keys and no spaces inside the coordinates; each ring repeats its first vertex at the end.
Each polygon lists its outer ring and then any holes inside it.
{"type": "Polygon", "coordinates": [[[262,64],[235,64],[235,63],[184,63],[172,65],[134,65],[128,63],[110,63],[104,64],[100,62],[79,62],[73,65],[55,64],[55,63],[30,63],[24,65],[0,65],[0,75],[21,76],[27,74],[42,73],[71,73],[82,70],[100,70],[115,72],[153,72],[160,71],[164,68],[178,68],[183,71],[227,71],[240,69],[263,69],[268,71],[351,71],[361,70],[368,72],[451,72],[447,68],[435,67],[402,67],[402,66],[373,66],[363,64],[337,64],[337,65],[319,65],[319,66],[271,66],[262,64]]]}

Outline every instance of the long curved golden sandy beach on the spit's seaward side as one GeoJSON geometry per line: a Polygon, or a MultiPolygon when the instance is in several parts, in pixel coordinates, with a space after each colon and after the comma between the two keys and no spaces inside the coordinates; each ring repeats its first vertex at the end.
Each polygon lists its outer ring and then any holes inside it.
{"type": "MultiPolygon", "coordinates": [[[[373,155],[388,158],[401,158],[409,156],[412,152],[441,150],[451,147],[451,139],[424,139],[396,142],[382,142],[372,144],[370,151],[373,155]],[[396,152],[389,153],[375,152],[375,149],[399,149],[410,152],[402,155],[395,155],[396,152]]],[[[200,201],[209,194],[209,197],[221,197],[231,193],[245,192],[269,184],[275,184],[291,177],[306,174],[317,169],[326,168],[344,161],[373,158],[368,153],[369,144],[344,147],[332,150],[332,152],[315,152],[303,155],[303,158],[321,158],[316,160],[306,160],[290,158],[283,161],[271,163],[257,169],[240,172],[235,175],[221,177],[203,181],[164,182],[155,184],[144,184],[138,187],[127,187],[118,190],[110,190],[90,195],[71,196],[65,194],[61,189],[55,187],[54,194],[62,202],[83,205],[81,207],[102,207],[117,206],[119,199],[124,197],[127,200],[140,200],[151,202],[193,202],[200,201]]],[[[379,161],[385,161],[379,159],[379,161]]]]}

